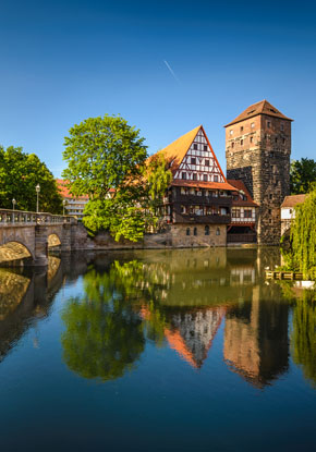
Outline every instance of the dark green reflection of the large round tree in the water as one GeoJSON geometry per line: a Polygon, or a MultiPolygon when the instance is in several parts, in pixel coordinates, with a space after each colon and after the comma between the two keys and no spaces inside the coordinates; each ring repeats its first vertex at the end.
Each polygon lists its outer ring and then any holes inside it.
{"type": "Polygon", "coordinates": [[[71,298],[62,315],[64,361],[85,378],[116,379],[144,350],[142,320],[114,268],[88,271],[84,290],[85,296],[71,298]]]}

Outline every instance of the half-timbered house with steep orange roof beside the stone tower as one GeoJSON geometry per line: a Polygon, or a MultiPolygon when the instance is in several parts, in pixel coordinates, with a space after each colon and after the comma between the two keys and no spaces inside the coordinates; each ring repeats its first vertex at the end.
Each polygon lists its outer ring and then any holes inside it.
{"type": "Polygon", "coordinates": [[[177,245],[226,245],[232,192],[202,125],[160,150],[173,179],[165,218],[177,245]]]}

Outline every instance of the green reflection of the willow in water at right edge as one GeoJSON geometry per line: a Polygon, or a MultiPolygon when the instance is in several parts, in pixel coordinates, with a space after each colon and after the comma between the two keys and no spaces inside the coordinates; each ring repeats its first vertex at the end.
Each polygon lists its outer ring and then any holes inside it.
{"type": "Polygon", "coordinates": [[[304,376],[316,387],[316,296],[304,291],[293,313],[292,350],[294,363],[302,366],[304,376]]]}

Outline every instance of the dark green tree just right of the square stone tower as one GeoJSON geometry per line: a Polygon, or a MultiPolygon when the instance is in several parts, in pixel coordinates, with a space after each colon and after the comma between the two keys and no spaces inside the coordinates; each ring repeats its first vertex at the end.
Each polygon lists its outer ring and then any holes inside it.
{"type": "Polygon", "coordinates": [[[302,158],[291,162],[291,194],[308,193],[316,183],[316,161],[302,158]]]}

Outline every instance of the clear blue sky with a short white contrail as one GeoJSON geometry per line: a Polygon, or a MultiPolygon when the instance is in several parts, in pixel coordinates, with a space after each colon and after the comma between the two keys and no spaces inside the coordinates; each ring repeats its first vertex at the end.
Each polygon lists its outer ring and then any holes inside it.
{"type": "Polygon", "coordinates": [[[226,169],[222,125],[269,100],[316,158],[313,1],[0,0],[0,144],[54,175],[69,129],[121,114],[149,154],[203,124],[226,169]],[[167,63],[166,63],[167,62],[167,63]]]}

